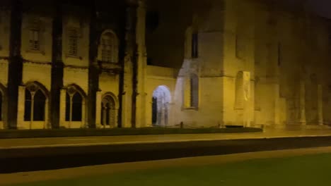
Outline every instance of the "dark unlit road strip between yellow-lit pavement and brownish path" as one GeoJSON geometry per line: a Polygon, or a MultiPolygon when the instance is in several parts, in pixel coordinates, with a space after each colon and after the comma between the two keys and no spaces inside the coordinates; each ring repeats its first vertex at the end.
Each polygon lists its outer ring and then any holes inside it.
{"type": "Polygon", "coordinates": [[[331,137],[298,137],[156,144],[112,144],[90,147],[0,149],[0,173],[329,146],[331,146],[331,137]]]}

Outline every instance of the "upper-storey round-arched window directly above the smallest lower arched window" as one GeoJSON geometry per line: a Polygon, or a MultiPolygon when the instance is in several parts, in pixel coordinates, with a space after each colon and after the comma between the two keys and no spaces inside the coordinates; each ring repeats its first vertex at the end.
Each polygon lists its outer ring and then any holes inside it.
{"type": "Polygon", "coordinates": [[[118,62],[118,42],[115,33],[105,32],[100,38],[100,60],[107,63],[118,62]]]}

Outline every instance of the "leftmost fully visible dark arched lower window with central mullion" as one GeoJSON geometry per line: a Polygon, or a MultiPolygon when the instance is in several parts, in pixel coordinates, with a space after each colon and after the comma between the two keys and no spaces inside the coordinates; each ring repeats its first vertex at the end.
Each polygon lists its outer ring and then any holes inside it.
{"type": "Polygon", "coordinates": [[[35,84],[25,88],[25,121],[45,120],[46,95],[42,89],[35,84]]]}

